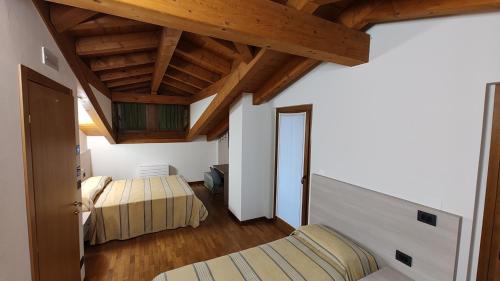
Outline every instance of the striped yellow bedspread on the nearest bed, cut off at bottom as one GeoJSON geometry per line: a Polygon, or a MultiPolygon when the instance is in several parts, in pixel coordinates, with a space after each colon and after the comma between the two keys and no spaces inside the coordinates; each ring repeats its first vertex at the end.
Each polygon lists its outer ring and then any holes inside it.
{"type": "Polygon", "coordinates": [[[153,281],[357,281],[377,270],[365,249],[332,229],[309,225],[265,245],[167,271],[153,281]]]}

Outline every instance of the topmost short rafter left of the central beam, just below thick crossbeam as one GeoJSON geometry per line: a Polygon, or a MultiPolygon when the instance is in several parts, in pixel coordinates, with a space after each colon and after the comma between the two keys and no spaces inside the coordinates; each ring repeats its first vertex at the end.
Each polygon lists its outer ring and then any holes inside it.
{"type": "Polygon", "coordinates": [[[128,52],[156,49],[158,32],[138,32],[82,37],[76,40],[76,53],[80,56],[109,56],[128,52]]]}

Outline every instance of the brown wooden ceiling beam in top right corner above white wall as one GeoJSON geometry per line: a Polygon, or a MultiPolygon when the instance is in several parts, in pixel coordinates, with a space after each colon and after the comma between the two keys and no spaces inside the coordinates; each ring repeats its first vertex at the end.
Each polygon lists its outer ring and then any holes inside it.
{"type": "Polygon", "coordinates": [[[342,12],[338,21],[365,29],[383,22],[500,10],[500,0],[361,0],[342,12]]]}

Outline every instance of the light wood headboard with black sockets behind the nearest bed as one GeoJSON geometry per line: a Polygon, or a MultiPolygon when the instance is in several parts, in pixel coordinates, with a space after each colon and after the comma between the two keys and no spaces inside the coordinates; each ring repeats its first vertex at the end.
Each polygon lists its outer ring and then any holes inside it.
{"type": "Polygon", "coordinates": [[[319,175],[312,176],[310,202],[310,223],[355,240],[379,265],[417,281],[455,280],[461,217],[319,175]],[[431,221],[435,215],[436,226],[418,221],[419,211],[431,221]],[[411,267],[396,251],[411,257],[411,267]]]}

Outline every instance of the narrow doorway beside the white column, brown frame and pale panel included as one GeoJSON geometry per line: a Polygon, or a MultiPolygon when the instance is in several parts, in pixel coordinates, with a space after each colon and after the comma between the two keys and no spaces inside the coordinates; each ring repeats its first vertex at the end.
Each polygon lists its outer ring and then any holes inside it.
{"type": "Polygon", "coordinates": [[[274,217],[286,232],[306,225],[312,105],[276,109],[274,217]]]}

